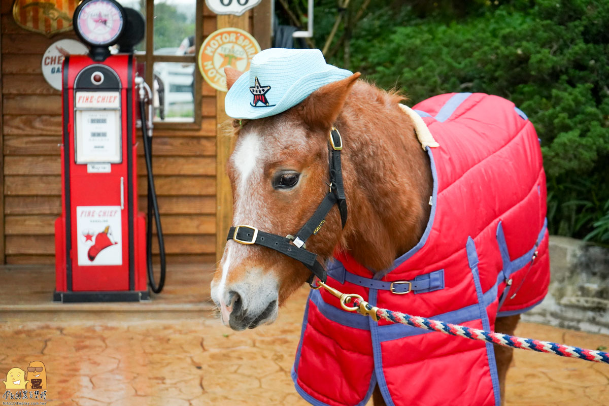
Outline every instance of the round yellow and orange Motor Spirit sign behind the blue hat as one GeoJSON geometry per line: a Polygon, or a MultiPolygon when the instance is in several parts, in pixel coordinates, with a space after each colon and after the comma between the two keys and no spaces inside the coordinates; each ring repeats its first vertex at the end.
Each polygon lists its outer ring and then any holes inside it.
{"type": "Polygon", "coordinates": [[[250,69],[250,61],[260,52],[258,41],[250,33],[238,28],[223,28],[205,38],[199,49],[199,70],[205,82],[213,88],[227,91],[224,68],[238,71],[250,69]]]}

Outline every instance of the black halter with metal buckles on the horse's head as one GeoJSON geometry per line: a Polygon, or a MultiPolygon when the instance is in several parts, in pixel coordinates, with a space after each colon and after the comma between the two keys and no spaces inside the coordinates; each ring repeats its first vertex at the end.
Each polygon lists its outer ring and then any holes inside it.
{"type": "Polygon", "coordinates": [[[306,240],[311,237],[311,234],[319,232],[323,223],[326,222],[326,215],[328,215],[328,212],[335,204],[339,206],[340,221],[343,228],[345,228],[345,223],[347,223],[347,199],[345,198],[342,169],[340,167],[340,150],[342,150],[343,144],[339,130],[334,127],[330,130],[329,142],[331,146],[329,158],[330,191],[323,198],[322,203],[317,206],[317,210],[315,210],[311,218],[298,230],[295,236],[288,234],[286,237],[282,237],[277,234],[259,231],[258,228],[250,225],[242,224],[231,227],[228,230],[227,237],[227,240],[233,240],[245,245],[262,245],[262,247],[270,248],[302,262],[312,272],[309,283],[313,281],[314,276],[325,282],[326,270],[317,261],[317,254],[306,250],[306,240]]]}

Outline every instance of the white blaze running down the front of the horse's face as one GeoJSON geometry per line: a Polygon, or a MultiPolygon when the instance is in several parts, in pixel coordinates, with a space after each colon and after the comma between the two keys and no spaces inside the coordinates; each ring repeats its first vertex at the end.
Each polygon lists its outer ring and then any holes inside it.
{"type": "MultiPolygon", "coordinates": [[[[252,205],[252,189],[259,183],[259,175],[262,173],[261,167],[261,138],[255,133],[244,135],[239,139],[233,156],[231,158],[233,167],[236,169],[236,194],[237,200],[234,207],[233,220],[235,225],[239,225],[245,220],[247,214],[250,219],[255,217],[256,208],[252,205]]],[[[243,247],[238,247],[239,244],[227,243],[227,248],[224,251],[224,263],[222,264],[222,278],[217,285],[217,291],[212,292],[212,296],[216,296],[220,303],[220,312],[222,320],[228,323],[228,317],[232,311],[232,307],[228,307],[224,301],[225,287],[228,276],[228,270],[232,262],[241,258],[243,247]],[[214,294],[215,293],[215,294],[214,294]]],[[[247,247],[246,247],[247,248],[247,247]]]]}

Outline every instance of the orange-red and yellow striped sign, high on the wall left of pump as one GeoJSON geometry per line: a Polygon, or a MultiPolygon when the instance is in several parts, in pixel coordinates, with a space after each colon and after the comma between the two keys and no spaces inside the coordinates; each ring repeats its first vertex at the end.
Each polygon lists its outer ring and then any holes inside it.
{"type": "Polygon", "coordinates": [[[19,27],[52,37],[72,29],[79,0],[15,0],[13,18],[19,27]]]}

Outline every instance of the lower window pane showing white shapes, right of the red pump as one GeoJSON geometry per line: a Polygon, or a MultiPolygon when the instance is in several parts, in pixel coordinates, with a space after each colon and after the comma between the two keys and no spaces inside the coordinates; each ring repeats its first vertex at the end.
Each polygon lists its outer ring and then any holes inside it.
{"type": "Polygon", "coordinates": [[[155,120],[194,122],[194,63],[154,63],[155,120]]]}

